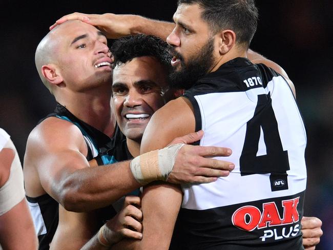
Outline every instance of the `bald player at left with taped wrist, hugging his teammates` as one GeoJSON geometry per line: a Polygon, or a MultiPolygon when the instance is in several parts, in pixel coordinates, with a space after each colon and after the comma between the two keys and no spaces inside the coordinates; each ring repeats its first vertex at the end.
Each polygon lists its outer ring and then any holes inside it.
{"type": "Polygon", "coordinates": [[[24,158],[26,196],[40,249],[85,244],[115,215],[114,207],[107,206],[144,183],[166,180],[170,171],[177,172],[177,183],[214,181],[229,174],[230,162],[205,157],[230,155],[225,148],[172,145],[160,156],[171,153],[175,161],[161,161],[155,175],[150,165],[156,167],[156,159],[146,157],[143,168],[135,163],[139,158],[121,161],[125,152],[119,141],[124,136],[110,106],[111,53],[96,27],[78,20],[59,25],[40,41],[35,63],[58,102],[55,112],[30,133],[24,158]],[[92,159],[100,164],[90,168],[92,159]]]}

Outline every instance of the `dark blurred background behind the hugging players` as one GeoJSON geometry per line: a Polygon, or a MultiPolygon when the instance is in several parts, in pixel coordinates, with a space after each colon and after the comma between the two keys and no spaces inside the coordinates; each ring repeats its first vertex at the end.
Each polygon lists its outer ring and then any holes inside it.
{"type": "MultiPolygon", "coordinates": [[[[257,0],[260,20],[251,48],[274,60],[294,81],[307,127],[305,215],[323,221],[317,249],[333,249],[333,1],[257,0]]],[[[41,83],[34,53],[55,20],[72,12],[132,13],[172,20],[176,0],[0,2],[0,127],[23,161],[36,122],[55,101],[41,83]]]]}

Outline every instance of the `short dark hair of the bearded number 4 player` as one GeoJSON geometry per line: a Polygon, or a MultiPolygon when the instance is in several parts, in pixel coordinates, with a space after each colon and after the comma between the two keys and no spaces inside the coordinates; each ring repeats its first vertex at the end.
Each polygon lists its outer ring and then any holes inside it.
{"type": "Polygon", "coordinates": [[[258,9],[254,0],[178,0],[181,4],[198,4],[203,9],[201,17],[211,30],[233,30],[238,44],[249,46],[257,30],[258,9]]]}

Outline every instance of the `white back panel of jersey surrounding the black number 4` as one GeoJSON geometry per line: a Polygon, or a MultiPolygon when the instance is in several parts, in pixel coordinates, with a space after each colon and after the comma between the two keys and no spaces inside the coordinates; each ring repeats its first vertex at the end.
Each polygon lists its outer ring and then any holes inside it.
{"type": "MultiPolygon", "coordinates": [[[[303,192],[306,187],[304,153],[306,134],[292,91],[283,77],[273,77],[267,87],[245,92],[209,93],[196,95],[204,136],[200,145],[228,147],[233,150],[230,157],[217,157],[235,163],[228,177],[205,184],[182,185],[184,197],[182,208],[206,210],[214,207],[290,196],[303,192]],[[240,156],[246,134],[246,124],[254,116],[258,95],[270,94],[272,107],[284,151],[287,151],[289,168],[288,189],[272,192],[270,174],[241,176],[240,156]],[[292,129],[291,129],[292,128],[292,129]],[[250,191],[250,192],[249,192],[250,191]]],[[[264,133],[260,129],[257,156],[266,154],[264,133]]]]}

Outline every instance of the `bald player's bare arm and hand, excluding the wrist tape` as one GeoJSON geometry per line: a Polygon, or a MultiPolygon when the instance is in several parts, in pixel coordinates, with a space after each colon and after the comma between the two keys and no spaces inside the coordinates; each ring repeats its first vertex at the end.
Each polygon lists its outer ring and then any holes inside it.
{"type": "MultiPolygon", "coordinates": [[[[184,145],[174,168],[169,170],[170,181],[211,182],[228,175],[230,162],[202,157],[212,155],[211,151],[230,155],[225,148],[184,145]],[[199,165],[193,161],[197,158],[201,159],[199,165]],[[184,162],[188,162],[186,168],[182,167],[184,162]]],[[[71,122],[55,117],[43,121],[28,138],[24,161],[27,195],[36,197],[46,192],[68,211],[87,212],[107,206],[141,186],[133,176],[130,161],[89,168],[86,155],[86,142],[71,122]]]]}

